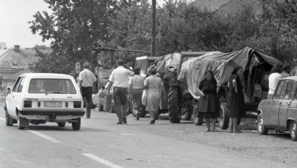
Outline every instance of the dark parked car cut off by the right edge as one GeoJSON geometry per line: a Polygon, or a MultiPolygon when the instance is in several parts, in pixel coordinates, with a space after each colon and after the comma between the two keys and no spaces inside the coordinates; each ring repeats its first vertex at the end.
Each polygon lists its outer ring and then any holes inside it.
{"type": "Polygon", "coordinates": [[[259,134],[266,135],[269,129],[277,132],[290,131],[297,141],[297,76],[279,81],[272,99],[259,103],[257,126],[259,134]]]}

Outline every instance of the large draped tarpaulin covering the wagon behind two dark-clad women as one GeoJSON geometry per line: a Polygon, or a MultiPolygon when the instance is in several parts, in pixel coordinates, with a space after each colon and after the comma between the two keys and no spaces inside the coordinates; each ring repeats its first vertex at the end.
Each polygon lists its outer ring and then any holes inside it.
{"type": "Polygon", "coordinates": [[[178,81],[182,86],[187,86],[192,96],[198,99],[196,90],[199,82],[204,78],[204,72],[207,69],[214,72],[219,85],[224,85],[228,82],[234,67],[241,66],[244,69],[250,69],[256,63],[265,62],[273,65],[280,61],[256,52],[249,47],[231,53],[210,52],[184,62],[178,76],[178,81]]]}

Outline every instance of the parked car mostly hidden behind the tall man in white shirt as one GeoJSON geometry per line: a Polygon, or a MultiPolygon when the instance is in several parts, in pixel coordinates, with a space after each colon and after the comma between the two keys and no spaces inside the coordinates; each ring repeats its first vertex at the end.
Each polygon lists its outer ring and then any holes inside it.
{"type": "MultiPolygon", "coordinates": [[[[108,85],[109,85],[109,81],[107,81],[105,83],[104,87],[99,88],[99,92],[98,92],[98,94],[99,94],[99,104],[98,104],[99,111],[103,111],[104,96],[105,96],[105,94],[107,94],[108,85]]],[[[111,94],[113,93],[113,85],[110,88],[110,93],[111,94]]],[[[112,113],[115,112],[113,97],[112,97],[112,100],[111,100],[111,110],[110,110],[110,112],[112,112],[112,113]]],[[[127,111],[126,112],[127,112],[127,115],[129,115],[131,113],[131,103],[130,103],[130,99],[128,99],[128,95],[127,95],[127,111]]]]}

